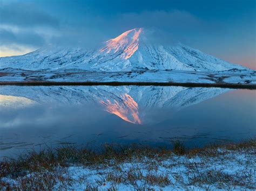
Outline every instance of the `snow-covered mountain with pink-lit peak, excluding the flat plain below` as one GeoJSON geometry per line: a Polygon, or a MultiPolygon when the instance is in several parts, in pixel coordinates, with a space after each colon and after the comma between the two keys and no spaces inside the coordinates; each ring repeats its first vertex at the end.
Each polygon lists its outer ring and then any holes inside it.
{"type": "Polygon", "coordinates": [[[21,56],[0,58],[0,68],[7,67],[29,70],[76,68],[111,72],[138,68],[196,71],[247,69],[183,44],[154,44],[143,28],[126,31],[95,50],[46,47],[21,56]]]}

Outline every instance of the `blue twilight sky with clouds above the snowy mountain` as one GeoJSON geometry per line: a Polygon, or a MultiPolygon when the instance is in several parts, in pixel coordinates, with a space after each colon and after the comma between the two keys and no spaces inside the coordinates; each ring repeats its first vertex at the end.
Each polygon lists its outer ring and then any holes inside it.
{"type": "Polygon", "coordinates": [[[47,45],[97,46],[144,27],[256,69],[256,0],[0,0],[0,56],[47,45]]]}

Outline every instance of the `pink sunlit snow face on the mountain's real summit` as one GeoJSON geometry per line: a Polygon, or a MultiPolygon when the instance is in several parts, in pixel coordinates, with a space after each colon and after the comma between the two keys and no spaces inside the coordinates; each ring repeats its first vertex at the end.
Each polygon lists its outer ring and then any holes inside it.
{"type": "Polygon", "coordinates": [[[106,41],[106,47],[100,49],[100,52],[117,53],[124,51],[121,58],[129,59],[139,47],[139,35],[142,28],[136,28],[122,33],[120,36],[106,41]]]}

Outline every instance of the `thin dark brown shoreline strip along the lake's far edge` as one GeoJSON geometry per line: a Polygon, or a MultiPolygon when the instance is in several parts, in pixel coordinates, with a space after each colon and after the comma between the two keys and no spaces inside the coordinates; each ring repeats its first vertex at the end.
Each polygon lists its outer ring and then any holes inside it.
{"type": "Polygon", "coordinates": [[[176,83],[176,82],[0,82],[0,86],[183,86],[183,87],[218,87],[233,89],[256,89],[256,84],[238,83],[176,83]]]}

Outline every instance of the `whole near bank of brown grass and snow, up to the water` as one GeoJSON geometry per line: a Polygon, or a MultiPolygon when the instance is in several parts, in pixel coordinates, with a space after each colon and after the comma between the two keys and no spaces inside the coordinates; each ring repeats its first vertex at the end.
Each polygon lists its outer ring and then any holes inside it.
{"type": "Polygon", "coordinates": [[[97,152],[73,146],[30,151],[17,159],[0,162],[0,189],[69,189],[78,183],[84,185],[85,190],[98,190],[104,188],[107,182],[110,190],[117,190],[118,185],[137,190],[168,186],[185,189],[194,186],[206,190],[256,189],[255,169],[250,169],[256,164],[256,139],[191,150],[186,150],[179,141],[172,144],[173,150],[113,144],[103,145],[102,150],[97,152]],[[232,153],[248,153],[248,156],[245,161],[233,159],[232,153]],[[199,161],[196,160],[198,157],[199,161]],[[237,174],[231,175],[225,169],[218,169],[218,166],[225,166],[226,161],[232,160],[244,167],[237,174]],[[97,178],[92,183],[87,174],[74,176],[69,171],[70,166],[97,171],[97,178]],[[182,172],[179,167],[183,167],[182,172]]]}

